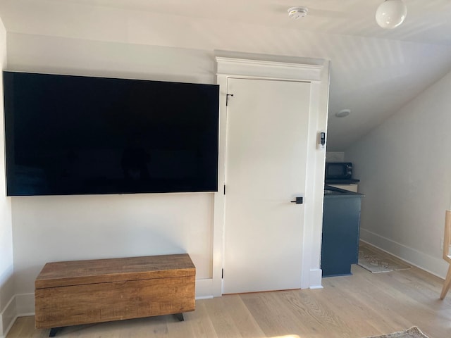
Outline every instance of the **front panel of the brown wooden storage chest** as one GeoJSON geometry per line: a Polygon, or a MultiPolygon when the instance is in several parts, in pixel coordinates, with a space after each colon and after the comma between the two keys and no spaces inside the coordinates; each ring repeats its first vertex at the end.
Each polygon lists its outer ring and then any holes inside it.
{"type": "Polygon", "coordinates": [[[195,276],[103,282],[35,290],[38,328],[194,311],[195,276]]]}

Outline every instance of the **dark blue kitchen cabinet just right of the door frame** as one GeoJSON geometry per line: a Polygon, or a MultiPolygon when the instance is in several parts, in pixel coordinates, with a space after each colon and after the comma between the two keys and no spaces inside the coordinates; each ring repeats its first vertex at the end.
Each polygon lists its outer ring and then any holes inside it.
{"type": "Polygon", "coordinates": [[[360,207],[364,195],[326,188],[323,207],[323,277],[352,275],[359,259],[360,207]]]}

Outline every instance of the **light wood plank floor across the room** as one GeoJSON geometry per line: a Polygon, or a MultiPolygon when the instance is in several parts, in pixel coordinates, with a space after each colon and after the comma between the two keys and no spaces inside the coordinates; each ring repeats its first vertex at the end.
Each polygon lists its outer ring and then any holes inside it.
{"type": "MultiPolygon", "coordinates": [[[[323,289],[228,295],[196,302],[185,321],[172,316],[64,327],[56,337],[362,338],[418,326],[430,338],[451,337],[451,293],[417,268],[323,278],[323,289]]],[[[7,338],[48,337],[34,317],[18,318],[7,338]]]]}

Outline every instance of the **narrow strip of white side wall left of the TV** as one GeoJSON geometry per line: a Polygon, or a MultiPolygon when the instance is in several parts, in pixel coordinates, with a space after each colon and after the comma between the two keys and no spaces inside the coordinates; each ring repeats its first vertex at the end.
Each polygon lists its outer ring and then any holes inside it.
{"type": "MultiPolygon", "coordinates": [[[[0,65],[6,65],[6,30],[0,20],[0,65]]],[[[0,93],[3,97],[3,80],[0,75],[0,93]]],[[[3,101],[0,104],[3,115],[3,101]]],[[[11,223],[11,200],[5,194],[4,170],[4,125],[0,121],[0,337],[6,334],[8,326],[16,316],[13,303],[13,237],[11,223]]]]}

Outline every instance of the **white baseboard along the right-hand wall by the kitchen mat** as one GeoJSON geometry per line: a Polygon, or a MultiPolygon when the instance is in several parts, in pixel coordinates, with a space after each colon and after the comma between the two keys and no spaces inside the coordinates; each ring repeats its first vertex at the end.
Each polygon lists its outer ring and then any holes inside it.
{"type": "Polygon", "coordinates": [[[406,261],[409,264],[425,270],[440,278],[445,278],[448,264],[443,259],[429,256],[426,253],[412,249],[409,246],[397,243],[369,230],[360,228],[360,240],[376,248],[381,249],[391,255],[406,261]]]}

